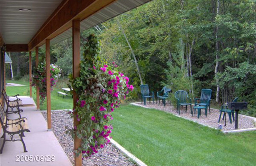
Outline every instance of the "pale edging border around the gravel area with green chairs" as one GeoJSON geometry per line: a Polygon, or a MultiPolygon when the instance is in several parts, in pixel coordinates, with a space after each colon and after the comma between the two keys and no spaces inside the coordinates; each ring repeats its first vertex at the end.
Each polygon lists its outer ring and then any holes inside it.
{"type": "MultiPolygon", "coordinates": [[[[139,107],[147,108],[147,109],[152,109],[152,108],[148,108],[148,107],[145,107],[145,106],[143,106],[143,105],[140,105],[140,104],[138,104],[138,103],[140,103],[140,102],[132,102],[132,103],[130,103],[130,104],[131,104],[131,105],[134,105],[134,106],[139,106],[139,107]]],[[[192,105],[193,105],[193,104],[192,104],[192,105]]],[[[211,108],[211,109],[213,109],[213,108],[211,108]]],[[[157,110],[160,110],[160,109],[157,109],[157,110]]],[[[170,114],[172,114],[172,113],[170,112],[170,114]]],[[[188,118],[186,118],[186,117],[181,117],[181,116],[176,115],[176,114],[172,114],[172,115],[174,115],[174,116],[176,116],[176,117],[180,117],[180,118],[186,119],[186,120],[189,120],[189,121],[192,121],[192,122],[195,122],[195,123],[197,123],[197,124],[201,124],[201,125],[203,125],[203,126],[210,127],[210,128],[212,128],[212,129],[219,130],[219,129],[217,129],[216,127],[212,127],[212,126],[209,126],[209,125],[206,125],[206,124],[202,124],[202,123],[199,123],[199,122],[194,121],[194,120],[192,120],[192,119],[188,119],[188,118]]],[[[240,115],[241,115],[241,116],[244,116],[244,117],[248,117],[248,118],[253,119],[253,121],[254,121],[254,123],[255,123],[255,125],[256,125],[256,118],[255,118],[255,117],[249,117],[249,116],[242,115],[242,114],[240,114],[240,115]]],[[[230,131],[225,131],[225,130],[220,130],[220,131],[223,132],[223,133],[248,132],[248,131],[256,131],[256,127],[247,128],[247,129],[230,130],[230,131]]]]}

